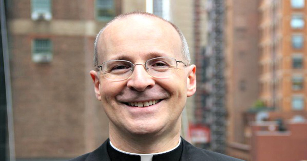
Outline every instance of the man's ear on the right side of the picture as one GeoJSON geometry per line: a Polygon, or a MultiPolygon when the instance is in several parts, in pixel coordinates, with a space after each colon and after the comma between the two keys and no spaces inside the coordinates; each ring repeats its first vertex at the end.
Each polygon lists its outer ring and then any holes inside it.
{"type": "Polygon", "coordinates": [[[196,66],[192,64],[188,66],[187,97],[192,96],[195,92],[196,92],[196,66]]]}

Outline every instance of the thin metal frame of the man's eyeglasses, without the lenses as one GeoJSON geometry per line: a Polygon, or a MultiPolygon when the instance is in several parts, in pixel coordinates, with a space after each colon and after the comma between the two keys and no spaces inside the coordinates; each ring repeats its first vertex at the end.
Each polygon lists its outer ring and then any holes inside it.
{"type": "MultiPolygon", "coordinates": [[[[172,59],[174,59],[175,61],[176,61],[176,69],[178,68],[178,63],[183,63],[184,65],[185,65],[185,67],[188,67],[188,64],[186,64],[185,62],[183,62],[183,61],[181,61],[181,60],[177,60],[177,59],[175,59],[175,58],[173,58],[173,57],[169,57],[169,56],[161,56],[161,57],[155,57],[155,58],[151,58],[151,59],[148,59],[148,60],[146,60],[146,62],[145,63],[138,63],[138,64],[134,64],[134,63],[132,63],[132,62],[130,62],[130,61],[128,61],[128,60],[108,60],[108,61],[105,61],[105,62],[103,62],[101,65],[98,65],[97,67],[96,67],[96,69],[99,71],[99,68],[100,68],[100,71],[102,71],[102,66],[103,66],[103,64],[104,63],[107,63],[107,62],[111,62],[111,61],[123,61],[123,62],[128,62],[128,63],[131,63],[132,64],[132,67],[131,67],[131,71],[132,71],[132,73],[133,73],[133,71],[134,71],[134,66],[135,65],[145,65],[145,69],[146,69],[146,72],[148,73],[148,69],[149,68],[147,68],[147,66],[146,66],[146,63],[148,62],[148,61],[150,61],[150,60],[153,60],[153,59],[158,59],[158,58],[172,58],[172,59]]],[[[132,73],[131,73],[131,75],[132,75],[132,73]]],[[[149,74],[149,73],[148,73],[149,74]]],[[[130,75],[130,76],[131,76],[130,75]]],[[[149,74],[150,75],[150,74],[149,74]]],[[[130,77],[129,76],[129,77],[130,77]]],[[[150,75],[150,76],[152,76],[152,75],[150,75]]],[[[128,79],[129,77],[127,77],[126,79],[128,79]]],[[[155,77],[155,76],[152,76],[152,77],[155,77]]],[[[156,78],[156,77],[155,77],[156,78]]],[[[107,78],[108,79],[108,78],[107,78]]],[[[109,80],[113,80],[113,79],[109,79],[109,80]]],[[[125,79],[122,79],[122,80],[125,80],[125,79]]],[[[122,81],[122,80],[114,80],[114,81],[122,81]]]]}

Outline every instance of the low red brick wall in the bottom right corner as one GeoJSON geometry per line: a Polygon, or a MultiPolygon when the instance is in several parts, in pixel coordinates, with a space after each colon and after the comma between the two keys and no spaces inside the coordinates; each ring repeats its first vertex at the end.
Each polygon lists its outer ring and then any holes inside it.
{"type": "Polygon", "coordinates": [[[254,132],[253,161],[307,159],[307,123],[289,124],[286,132],[254,132]]]}

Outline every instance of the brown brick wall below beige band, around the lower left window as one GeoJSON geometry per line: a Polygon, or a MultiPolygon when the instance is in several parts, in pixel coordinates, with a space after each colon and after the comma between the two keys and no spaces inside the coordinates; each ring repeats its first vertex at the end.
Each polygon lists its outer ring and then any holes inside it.
{"type": "Polygon", "coordinates": [[[17,158],[70,157],[84,152],[84,41],[50,37],[51,63],[31,60],[33,36],[11,37],[17,158]]]}

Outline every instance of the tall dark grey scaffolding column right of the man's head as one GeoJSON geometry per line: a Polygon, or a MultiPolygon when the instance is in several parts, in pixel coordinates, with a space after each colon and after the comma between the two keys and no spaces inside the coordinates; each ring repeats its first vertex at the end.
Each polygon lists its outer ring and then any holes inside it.
{"type": "Polygon", "coordinates": [[[210,0],[208,12],[207,86],[209,96],[206,100],[209,118],[204,118],[210,125],[210,150],[225,153],[226,148],[226,109],[224,79],[224,0],[210,0]]]}

